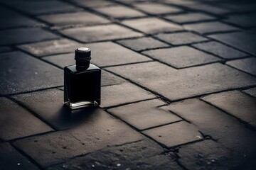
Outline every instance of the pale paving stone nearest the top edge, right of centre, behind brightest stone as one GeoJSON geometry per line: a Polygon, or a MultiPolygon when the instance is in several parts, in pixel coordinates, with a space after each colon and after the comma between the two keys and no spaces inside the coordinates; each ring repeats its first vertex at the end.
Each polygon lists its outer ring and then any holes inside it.
{"type": "Polygon", "coordinates": [[[133,4],[136,8],[150,14],[164,14],[164,13],[181,13],[182,10],[180,8],[176,8],[173,6],[167,6],[164,4],[157,3],[138,3],[133,4]]]}

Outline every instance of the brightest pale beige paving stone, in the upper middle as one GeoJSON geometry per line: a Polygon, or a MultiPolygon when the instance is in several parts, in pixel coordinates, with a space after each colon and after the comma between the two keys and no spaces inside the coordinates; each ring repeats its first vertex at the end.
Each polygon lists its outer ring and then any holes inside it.
{"type": "Polygon", "coordinates": [[[174,23],[167,23],[166,21],[160,20],[158,18],[133,19],[123,21],[122,23],[126,26],[148,34],[171,32],[183,29],[181,26],[178,26],[174,23]]]}

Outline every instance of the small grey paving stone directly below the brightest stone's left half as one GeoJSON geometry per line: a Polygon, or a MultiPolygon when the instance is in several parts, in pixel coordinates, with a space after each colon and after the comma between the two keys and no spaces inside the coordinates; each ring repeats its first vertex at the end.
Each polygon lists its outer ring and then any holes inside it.
{"type": "Polygon", "coordinates": [[[170,46],[164,42],[161,42],[151,37],[137,38],[132,40],[119,40],[117,42],[119,44],[124,45],[125,47],[132,48],[132,50],[136,50],[136,51],[170,46]]]}

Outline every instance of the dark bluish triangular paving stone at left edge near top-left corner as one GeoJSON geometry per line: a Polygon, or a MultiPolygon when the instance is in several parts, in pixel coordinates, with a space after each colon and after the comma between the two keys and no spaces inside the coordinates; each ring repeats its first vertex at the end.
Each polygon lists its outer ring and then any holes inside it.
{"type": "Polygon", "coordinates": [[[21,13],[10,11],[0,6],[0,28],[14,28],[20,26],[36,26],[39,24],[31,18],[22,16],[21,13]]]}

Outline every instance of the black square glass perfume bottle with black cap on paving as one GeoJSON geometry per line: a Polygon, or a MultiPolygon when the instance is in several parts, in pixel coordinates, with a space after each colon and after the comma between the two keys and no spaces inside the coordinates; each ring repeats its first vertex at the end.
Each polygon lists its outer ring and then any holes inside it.
{"type": "Polygon", "coordinates": [[[64,67],[64,102],[71,109],[100,105],[101,70],[90,64],[91,50],[75,50],[75,65],[64,67]]]}

